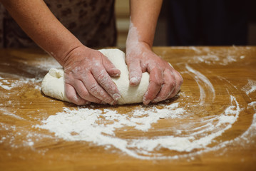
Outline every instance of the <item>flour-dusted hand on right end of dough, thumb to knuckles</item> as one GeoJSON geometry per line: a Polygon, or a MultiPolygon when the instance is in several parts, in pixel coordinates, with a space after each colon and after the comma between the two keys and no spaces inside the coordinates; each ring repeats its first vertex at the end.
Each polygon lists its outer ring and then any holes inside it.
{"type": "Polygon", "coordinates": [[[172,98],[180,90],[183,78],[178,71],[151,51],[147,43],[138,43],[127,48],[126,63],[129,69],[130,86],[140,83],[142,73],[150,73],[148,90],[143,96],[144,105],[172,98]]]}

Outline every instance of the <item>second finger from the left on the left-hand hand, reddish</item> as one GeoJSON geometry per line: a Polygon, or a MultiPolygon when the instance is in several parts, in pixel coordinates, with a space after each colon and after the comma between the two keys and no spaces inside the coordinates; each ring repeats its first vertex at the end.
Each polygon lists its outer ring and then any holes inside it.
{"type": "Polygon", "coordinates": [[[84,86],[83,82],[80,80],[74,81],[74,88],[76,89],[76,92],[78,95],[83,98],[84,100],[93,102],[93,103],[102,103],[101,100],[91,95],[88,90],[86,89],[86,86],[84,86]]]}

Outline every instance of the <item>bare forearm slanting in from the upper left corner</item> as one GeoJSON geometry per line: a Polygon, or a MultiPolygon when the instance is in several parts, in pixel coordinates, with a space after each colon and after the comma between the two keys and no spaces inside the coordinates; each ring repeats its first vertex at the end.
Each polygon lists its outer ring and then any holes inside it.
{"type": "Polygon", "coordinates": [[[81,42],[48,9],[43,0],[1,0],[21,28],[61,63],[81,42]]]}

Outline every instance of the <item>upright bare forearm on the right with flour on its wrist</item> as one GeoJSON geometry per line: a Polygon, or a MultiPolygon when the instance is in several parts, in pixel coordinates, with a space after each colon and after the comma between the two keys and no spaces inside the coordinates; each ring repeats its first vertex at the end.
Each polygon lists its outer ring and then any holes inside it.
{"type": "Polygon", "coordinates": [[[129,41],[134,41],[137,31],[138,41],[153,45],[155,27],[158,21],[162,0],[130,0],[129,41]],[[131,38],[133,37],[133,38],[131,38]]]}

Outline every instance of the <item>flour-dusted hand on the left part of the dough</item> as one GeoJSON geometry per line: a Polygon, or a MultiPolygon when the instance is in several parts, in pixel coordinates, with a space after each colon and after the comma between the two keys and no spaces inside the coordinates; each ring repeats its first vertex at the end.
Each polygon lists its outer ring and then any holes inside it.
{"type": "Polygon", "coordinates": [[[121,72],[101,52],[79,46],[68,53],[63,68],[66,97],[72,103],[116,105],[121,98],[110,77],[120,76],[121,72]]]}

